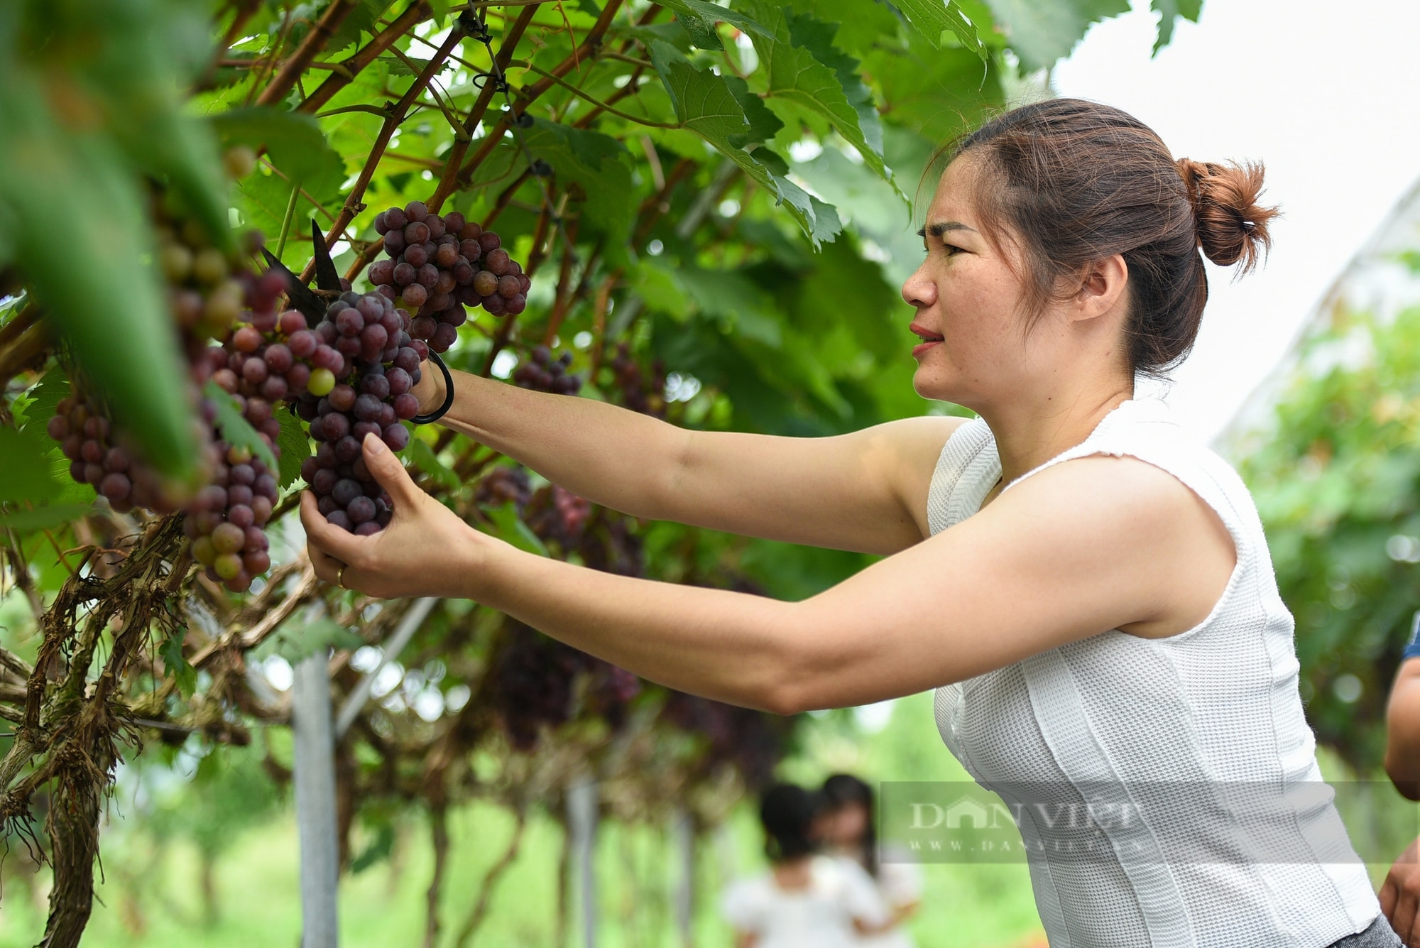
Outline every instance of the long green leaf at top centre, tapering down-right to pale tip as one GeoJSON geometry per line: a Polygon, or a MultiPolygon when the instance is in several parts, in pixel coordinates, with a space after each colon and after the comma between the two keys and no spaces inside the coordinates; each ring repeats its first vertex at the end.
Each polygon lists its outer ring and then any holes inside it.
{"type": "Polygon", "coordinates": [[[670,97],[676,119],[684,128],[703,138],[738,165],[751,180],[774,194],[780,203],[787,204],[790,214],[815,247],[821,241],[834,240],[842,230],[838,213],[791,182],[784,159],[764,146],[751,155],[734,145],[734,140],[751,135],[754,126],[723,77],[710,70],[697,70],[665,43],[650,44],[650,60],[670,97]]]}

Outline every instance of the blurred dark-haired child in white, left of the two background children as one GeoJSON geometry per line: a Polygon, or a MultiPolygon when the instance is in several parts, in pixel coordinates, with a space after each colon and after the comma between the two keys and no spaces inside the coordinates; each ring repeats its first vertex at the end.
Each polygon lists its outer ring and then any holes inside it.
{"type": "Polygon", "coordinates": [[[731,884],[721,901],[736,948],[853,948],[889,921],[862,866],[816,851],[816,810],[815,796],[791,783],[761,798],[770,870],[731,884]]]}

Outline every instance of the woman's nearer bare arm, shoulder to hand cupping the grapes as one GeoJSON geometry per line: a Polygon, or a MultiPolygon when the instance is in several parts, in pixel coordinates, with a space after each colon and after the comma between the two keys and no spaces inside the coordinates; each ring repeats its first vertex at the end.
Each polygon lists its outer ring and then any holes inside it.
{"type": "Polygon", "coordinates": [[[662,684],[780,714],[914,694],[1125,627],[1201,622],[1231,539],[1172,475],[1085,458],[1044,471],[932,539],[804,602],[616,576],[523,553],[419,491],[388,450],[395,498],[375,536],[302,498],[317,575],[376,596],[469,597],[662,684]],[[332,559],[334,558],[334,559],[332,559]]]}

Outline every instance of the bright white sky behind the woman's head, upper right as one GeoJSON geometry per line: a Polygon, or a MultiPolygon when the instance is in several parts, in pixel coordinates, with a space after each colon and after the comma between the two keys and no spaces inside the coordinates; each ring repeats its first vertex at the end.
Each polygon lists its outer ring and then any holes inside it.
{"type": "Polygon", "coordinates": [[[1170,402],[1213,436],[1420,176],[1420,3],[1204,0],[1157,58],[1147,7],[1096,24],[1056,92],[1132,112],[1176,156],[1264,160],[1285,213],[1265,270],[1231,282],[1210,268],[1198,345],[1174,373],[1170,402]]]}

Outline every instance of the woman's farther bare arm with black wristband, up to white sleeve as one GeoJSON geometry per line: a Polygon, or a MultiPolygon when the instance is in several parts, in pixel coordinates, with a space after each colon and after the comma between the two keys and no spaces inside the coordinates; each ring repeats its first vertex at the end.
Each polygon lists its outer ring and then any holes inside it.
{"type": "MultiPolygon", "coordinates": [[[[443,400],[426,372],[425,406],[443,400]]],[[[442,385],[442,383],[440,383],[442,385]]],[[[635,517],[892,553],[926,534],[927,483],[961,419],[822,439],[692,431],[592,399],[454,373],[443,424],[635,517]]]]}

